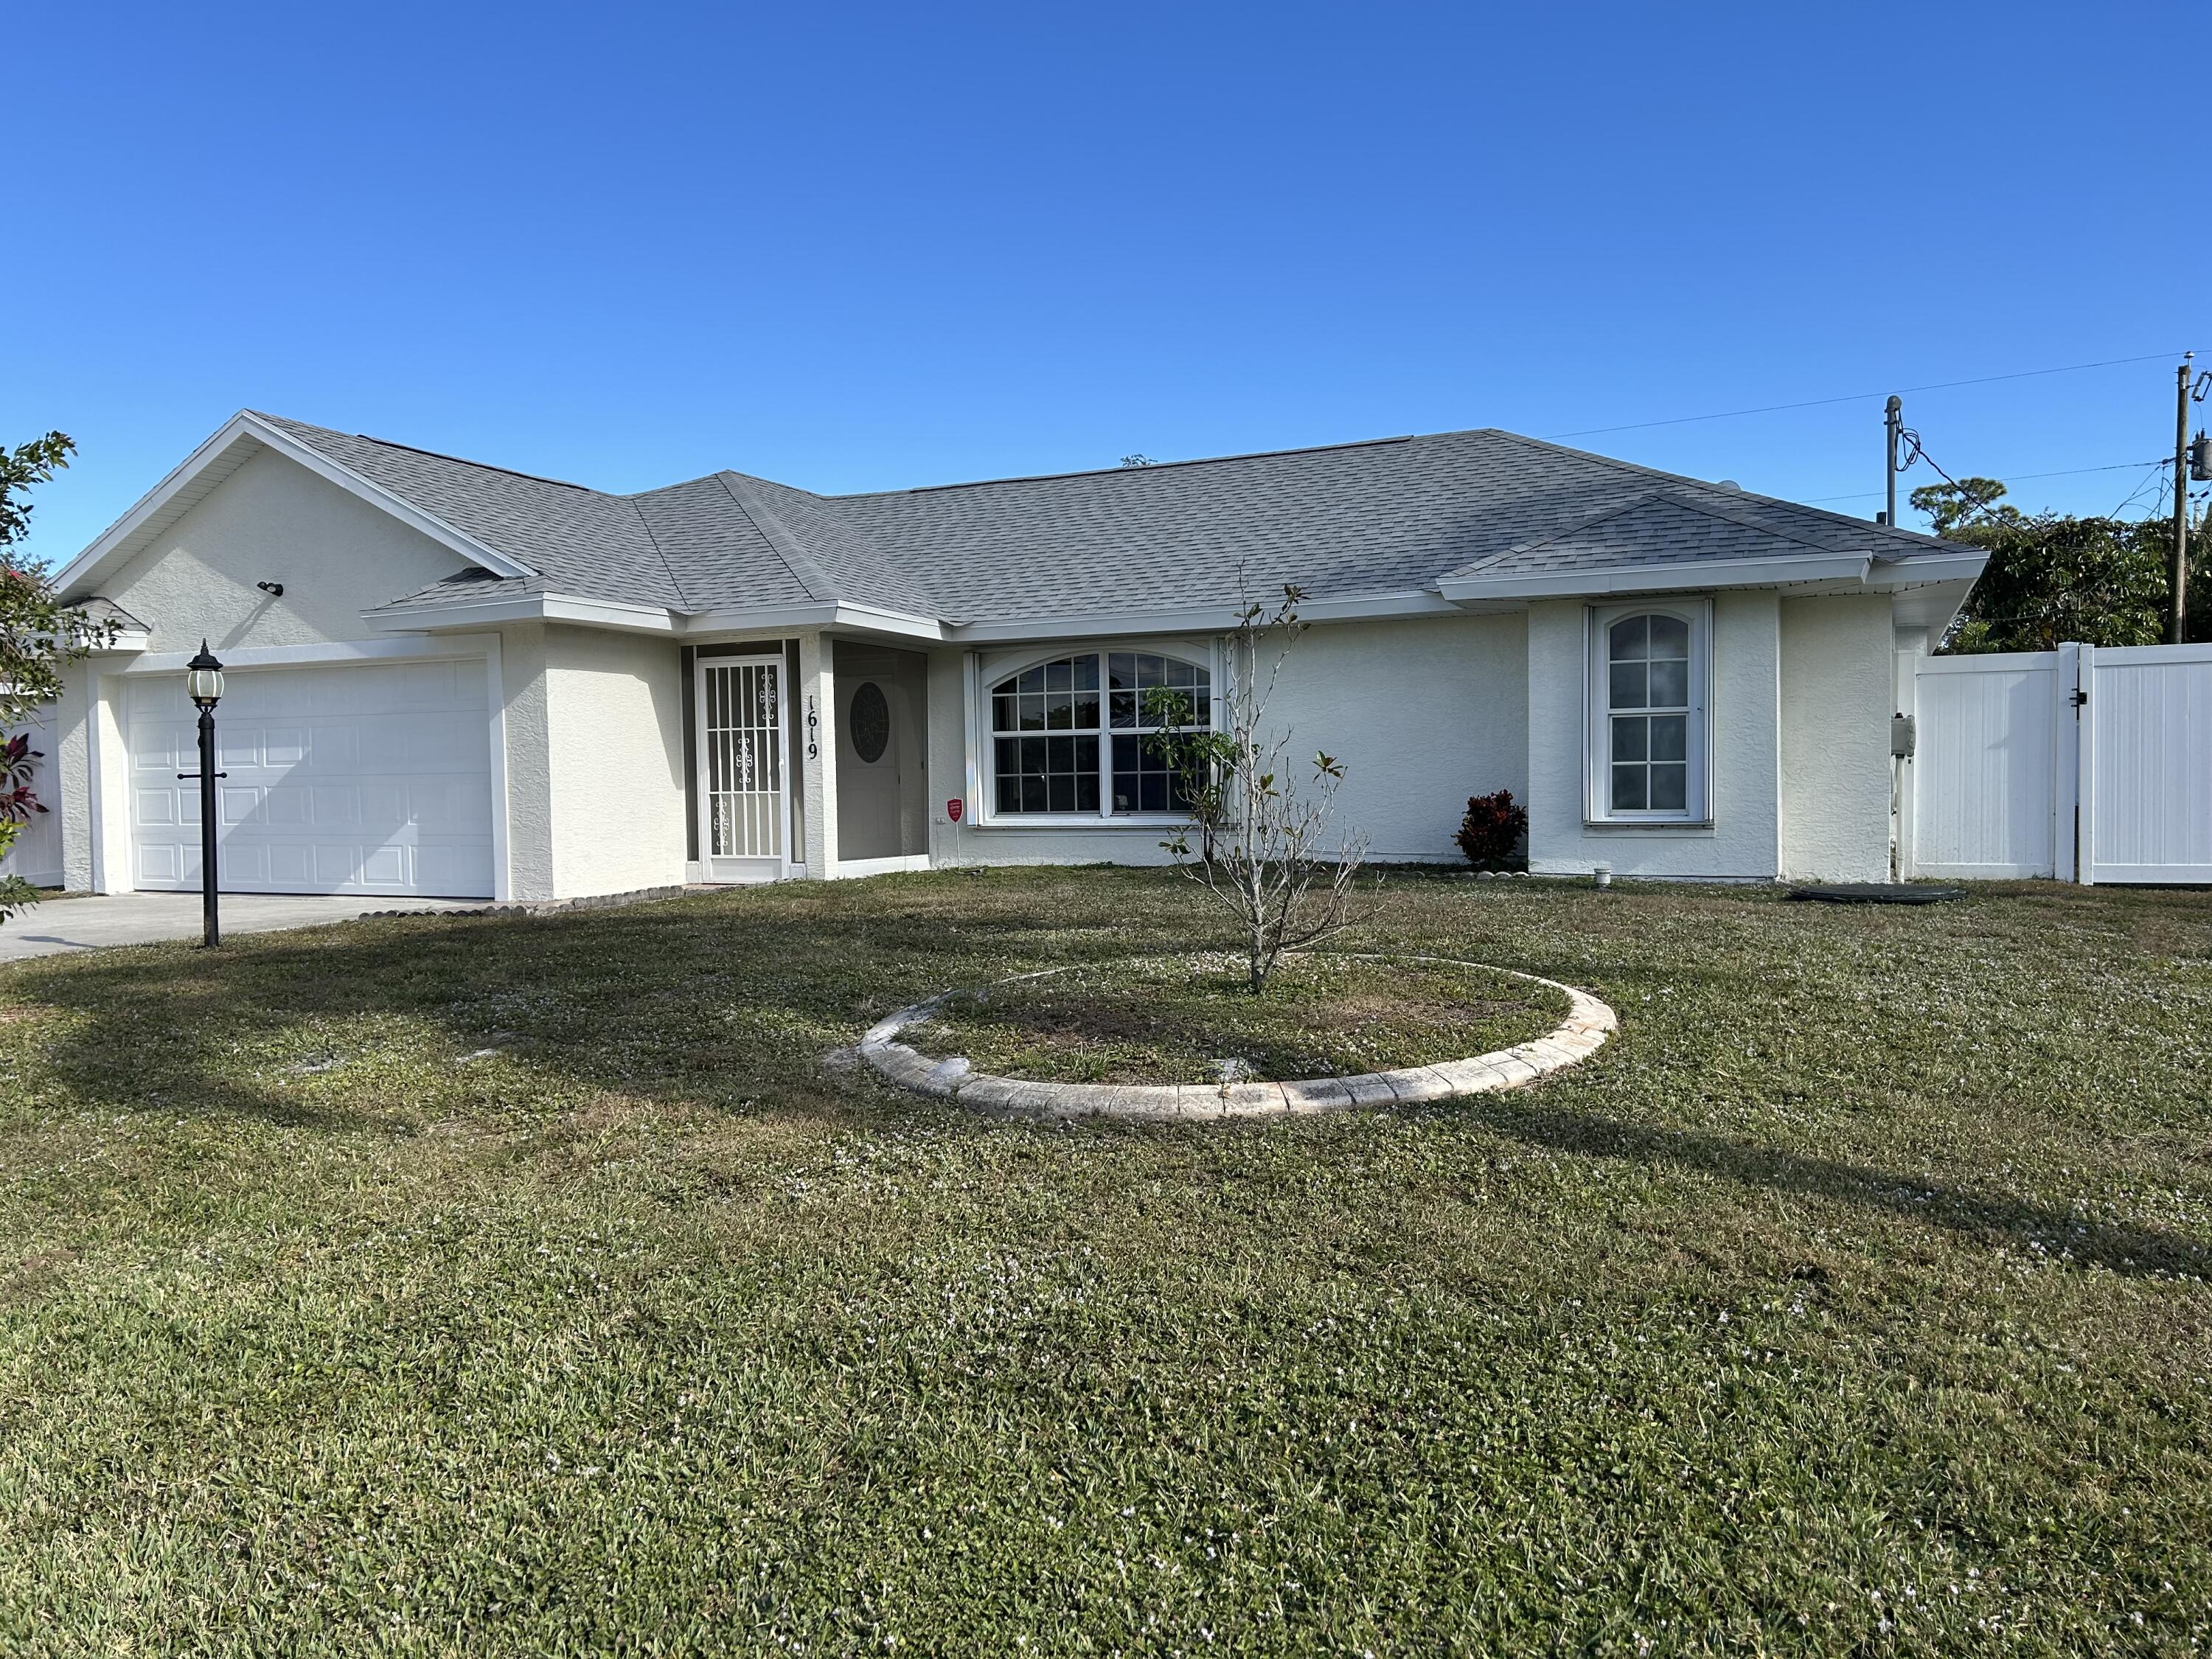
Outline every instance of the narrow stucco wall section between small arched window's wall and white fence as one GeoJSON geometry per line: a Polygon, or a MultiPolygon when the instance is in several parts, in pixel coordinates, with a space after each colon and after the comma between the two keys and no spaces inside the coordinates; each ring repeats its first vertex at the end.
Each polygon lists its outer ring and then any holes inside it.
{"type": "Polygon", "coordinates": [[[1781,874],[1889,880],[1889,595],[1781,604],[1781,874]]]}

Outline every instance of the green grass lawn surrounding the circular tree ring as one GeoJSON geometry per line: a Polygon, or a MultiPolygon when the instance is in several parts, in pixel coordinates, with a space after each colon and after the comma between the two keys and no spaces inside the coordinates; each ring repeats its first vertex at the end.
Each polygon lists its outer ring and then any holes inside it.
{"type": "Polygon", "coordinates": [[[2212,896],[1400,876],[1537,1088],[989,1124],[823,1071],[1175,878],[0,969],[0,1648],[2190,1652],[2212,896]]]}

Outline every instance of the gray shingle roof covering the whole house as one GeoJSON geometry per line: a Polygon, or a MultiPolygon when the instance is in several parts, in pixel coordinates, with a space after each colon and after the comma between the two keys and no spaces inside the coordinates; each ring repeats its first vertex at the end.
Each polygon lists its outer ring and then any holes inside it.
{"type": "MultiPolygon", "coordinates": [[[[686,613],[841,599],[1006,622],[1230,604],[1239,573],[1336,599],[1444,575],[1949,551],[1495,429],[865,495],[734,471],[606,495],[265,418],[538,573],[502,593],[686,613]]],[[[482,593],[440,582],[409,604],[482,593]]]]}

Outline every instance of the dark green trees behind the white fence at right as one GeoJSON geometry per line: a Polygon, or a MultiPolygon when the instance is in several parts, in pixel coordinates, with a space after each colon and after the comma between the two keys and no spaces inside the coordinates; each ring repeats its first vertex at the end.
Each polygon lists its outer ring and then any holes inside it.
{"type": "MultiPolygon", "coordinates": [[[[2002,498],[2004,484],[1995,478],[1924,484],[1911,495],[1933,520],[1936,535],[1989,553],[1944,650],[2051,650],[2066,639],[2154,646],[2166,639],[2172,518],[2028,515],[2002,498]]],[[[2203,538],[2192,540],[2188,637],[2205,639],[2212,637],[2212,604],[2199,595],[2212,560],[2203,538]]]]}

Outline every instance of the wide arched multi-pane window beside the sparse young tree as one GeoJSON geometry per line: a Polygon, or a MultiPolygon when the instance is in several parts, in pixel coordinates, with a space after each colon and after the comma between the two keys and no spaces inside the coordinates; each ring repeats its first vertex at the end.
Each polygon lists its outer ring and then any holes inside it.
{"type": "Polygon", "coordinates": [[[991,686],[995,816],[1119,816],[1188,810],[1159,754],[1166,730],[1212,723],[1212,672],[1157,650],[1084,650],[991,686]],[[1183,710],[1161,726],[1161,697],[1183,710]]]}

